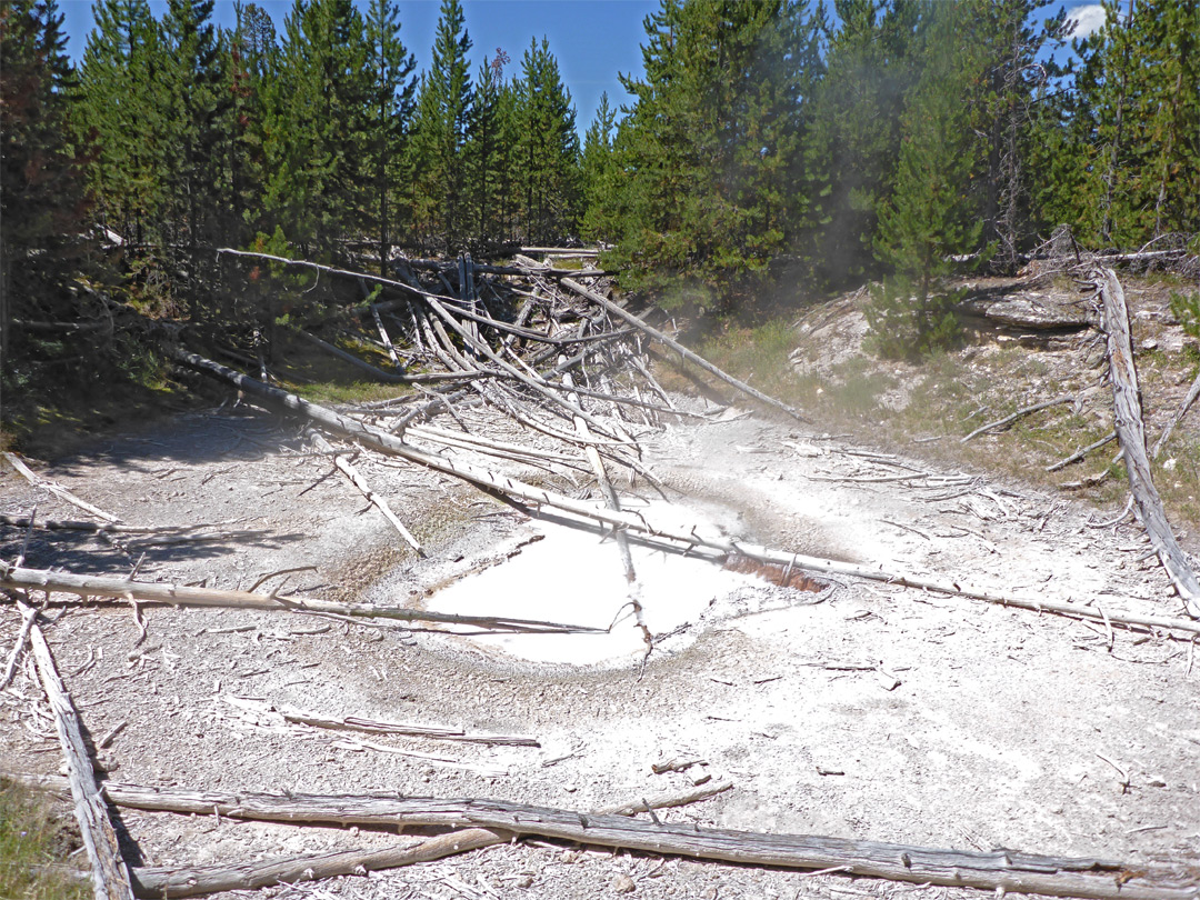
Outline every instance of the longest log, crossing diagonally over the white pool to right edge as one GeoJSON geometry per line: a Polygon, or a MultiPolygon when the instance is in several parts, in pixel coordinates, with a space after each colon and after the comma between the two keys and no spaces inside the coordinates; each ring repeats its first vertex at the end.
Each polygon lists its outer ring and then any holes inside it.
{"type": "MultiPolygon", "coordinates": [[[[822,559],[820,557],[802,556],[786,551],[770,550],[757,545],[742,544],[727,536],[707,536],[696,532],[695,527],[684,528],[682,526],[655,524],[648,521],[640,512],[628,510],[610,510],[605,506],[576,500],[571,497],[556,493],[547,488],[534,487],[517,479],[497,475],[487,469],[482,469],[467,463],[446,460],[437,454],[426,452],[400,438],[380,432],[343,415],[338,415],[331,409],[326,409],[317,403],[301,400],[294,394],[288,394],[277,388],[263,384],[248,376],[235,372],[218,362],[206,360],[203,356],[187,353],[179,348],[168,349],[168,353],[180,362],[188,365],[200,372],[205,372],[217,378],[223,378],[238,385],[247,394],[254,394],[282,406],[286,409],[307,415],[322,427],[329,428],[341,434],[348,434],[364,446],[371,446],[384,454],[400,456],[412,462],[427,466],[437,472],[455,475],[466,481],[470,481],[490,491],[499,491],[510,497],[515,497],[536,506],[550,506],[564,512],[602,522],[610,527],[625,528],[630,532],[643,535],[647,540],[660,541],[664,545],[685,550],[694,547],[706,547],[722,554],[740,553],[742,556],[757,559],[762,563],[774,563],[776,565],[790,566],[791,569],[803,569],[822,575],[844,575],[853,578],[868,581],[882,581],[901,587],[917,588],[923,590],[935,590],[942,594],[964,596],[972,600],[982,600],[1001,606],[1015,606],[1037,612],[1051,612],[1073,618],[1093,619],[1097,622],[1111,622],[1121,625],[1140,625],[1146,628],[1164,628],[1190,634],[1200,634],[1200,623],[1186,619],[1174,619],[1157,616],[1138,616],[1124,613],[1109,613],[1106,617],[1097,610],[1081,604],[1058,602],[1034,598],[1020,598],[1007,594],[997,594],[986,590],[973,590],[961,587],[953,581],[926,578],[922,576],[893,572],[872,565],[856,563],[844,563],[835,559],[822,559]]],[[[2,564],[0,564],[2,565],[2,564]]],[[[0,587],[4,582],[0,581],[0,587]]]]}

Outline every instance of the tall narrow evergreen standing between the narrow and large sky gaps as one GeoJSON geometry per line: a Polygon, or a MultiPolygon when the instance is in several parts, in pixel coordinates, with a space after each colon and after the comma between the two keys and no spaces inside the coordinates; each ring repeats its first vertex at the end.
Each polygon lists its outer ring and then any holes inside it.
{"type": "Polygon", "coordinates": [[[472,108],[469,50],[462,4],[442,0],[433,58],[418,91],[412,143],[415,224],[446,251],[462,246],[469,227],[464,204],[472,108]]]}

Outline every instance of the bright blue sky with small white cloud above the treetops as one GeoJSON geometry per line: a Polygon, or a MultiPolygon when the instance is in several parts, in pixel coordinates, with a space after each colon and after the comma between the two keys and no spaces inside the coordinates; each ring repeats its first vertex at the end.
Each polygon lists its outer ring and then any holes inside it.
{"type": "MultiPolygon", "coordinates": [[[[364,0],[355,1],[364,5],[364,0]]],[[[257,2],[282,31],[292,1],[257,2]]],[[[151,0],[150,6],[154,14],[161,17],[166,2],[151,0]]],[[[400,0],[401,35],[408,49],[416,54],[419,71],[430,61],[439,6],[438,0],[400,0]]],[[[1057,12],[1061,6],[1054,5],[1049,11],[1057,12]]],[[[78,60],[92,28],[91,0],[60,0],[60,7],[66,16],[68,49],[78,60]]],[[[530,40],[540,41],[545,36],[571,91],[577,110],[576,125],[582,134],[604,91],[608,92],[613,106],[628,100],[617,73],[641,74],[641,44],[646,38],[642,22],[658,7],[658,0],[463,0],[467,32],[474,43],[472,73],[482,58],[494,54],[498,47],[512,58],[510,72],[520,70],[521,54],[530,40]]],[[[1080,19],[1081,26],[1092,29],[1103,22],[1098,4],[1072,2],[1067,7],[1073,18],[1080,19]]],[[[216,0],[214,18],[220,25],[232,26],[233,0],[216,0]]]]}

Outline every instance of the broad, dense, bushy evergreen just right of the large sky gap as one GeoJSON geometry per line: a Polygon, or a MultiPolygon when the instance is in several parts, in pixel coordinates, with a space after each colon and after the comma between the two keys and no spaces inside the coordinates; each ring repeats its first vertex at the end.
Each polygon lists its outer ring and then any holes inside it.
{"type": "Polygon", "coordinates": [[[613,151],[624,186],[602,221],[620,233],[610,259],[667,304],[757,293],[792,245],[812,19],[787,0],[665,0],[647,19],[613,151]]]}

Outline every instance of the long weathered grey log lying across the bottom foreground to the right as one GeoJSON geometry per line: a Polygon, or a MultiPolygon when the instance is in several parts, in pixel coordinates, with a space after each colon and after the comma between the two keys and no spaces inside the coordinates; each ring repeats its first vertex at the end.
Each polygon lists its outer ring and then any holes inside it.
{"type": "MultiPolygon", "coordinates": [[[[970,887],[1094,900],[1196,900],[1200,887],[1142,865],[1096,858],[938,850],[906,844],[766,834],[583,814],[488,799],[396,794],[328,796],[218,793],[132,785],[104,786],[109,800],[132,809],[228,818],[336,824],[485,828],[644,853],[787,869],[838,868],[848,875],[944,887],[970,887]]],[[[160,894],[161,895],[161,894],[160,894]]],[[[168,894],[169,895],[169,894],[168,894]]]]}

